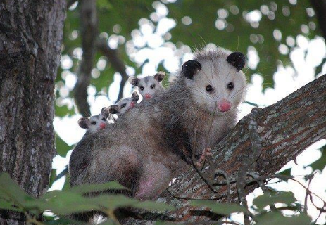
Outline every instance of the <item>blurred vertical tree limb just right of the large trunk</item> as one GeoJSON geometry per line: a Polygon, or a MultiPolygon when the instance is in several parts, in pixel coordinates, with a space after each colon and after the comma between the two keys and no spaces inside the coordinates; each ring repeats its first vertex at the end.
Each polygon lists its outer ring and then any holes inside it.
{"type": "Polygon", "coordinates": [[[77,109],[84,117],[89,117],[91,111],[87,102],[87,87],[91,82],[95,55],[95,41],[97,37],[96,1],[80,1],[80,25],[82,37],[82,61],[78,69],[78,80],[74,89],[74,98],[77,109]]]}

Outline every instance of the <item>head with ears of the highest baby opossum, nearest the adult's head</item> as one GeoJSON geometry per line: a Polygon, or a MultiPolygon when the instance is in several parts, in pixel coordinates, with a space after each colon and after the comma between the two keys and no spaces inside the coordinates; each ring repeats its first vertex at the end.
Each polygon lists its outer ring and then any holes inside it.
{"type": "Polygon", "coordinates": [[[144,99],[155,98],[159,91],[162,90],[161,81],[165,77],[165,72],[159,71],[156,75],[143,77],[129,77],[129,82],[133,86],[138,87],[140,95],[144,99]]]}

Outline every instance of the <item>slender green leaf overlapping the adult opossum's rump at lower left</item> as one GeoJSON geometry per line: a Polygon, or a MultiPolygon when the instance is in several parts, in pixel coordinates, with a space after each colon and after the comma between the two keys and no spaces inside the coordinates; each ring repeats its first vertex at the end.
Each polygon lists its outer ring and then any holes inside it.
{"type": "Polygon", "coordinates": [[[129,188],[125,188],[121,184],[116,181],[111,181],[106,184],[82,184],[80,186],[75,186],[70,188],[70,192],[74,193],[91,193],[98,191],[106,191],[106,190],[130,190],[129,188]]]}

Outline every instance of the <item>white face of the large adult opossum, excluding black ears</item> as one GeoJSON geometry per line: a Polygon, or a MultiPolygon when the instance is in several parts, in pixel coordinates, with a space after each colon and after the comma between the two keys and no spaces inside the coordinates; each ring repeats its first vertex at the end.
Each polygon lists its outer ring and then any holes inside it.
{"type": "Polygon", "coordinates": [[[215,115],[235,110],[246,93],[244,73],[227,63],[226,57],[198,61],[201,70],[193,79],[186,78],[196,104],[208,113],[215,110],[215,115]]]}

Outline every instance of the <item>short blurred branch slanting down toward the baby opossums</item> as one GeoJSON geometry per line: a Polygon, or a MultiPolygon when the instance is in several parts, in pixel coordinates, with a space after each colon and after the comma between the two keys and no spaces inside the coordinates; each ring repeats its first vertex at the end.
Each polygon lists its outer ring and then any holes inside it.
{"type": "Polygon", "coordinates": [[[118,100],[120,100],[120,98],[123,98],[123,87],[125,86],[125,83],[128,80],[128,75],[125,71],[125,63],[123,63],[123,60],[120,59],[118,51],[116,49],[111,49],[110,46],[108,46],[108,42],[106,41],[106,39],[99,40],[96,46],[99,51],[101,51],[101,53],[103,53],[104,56],[108,58],[114,70],[119,72],[121,75],[122,79],[120,82],[120,89],[118,94],[118,100]]]}

